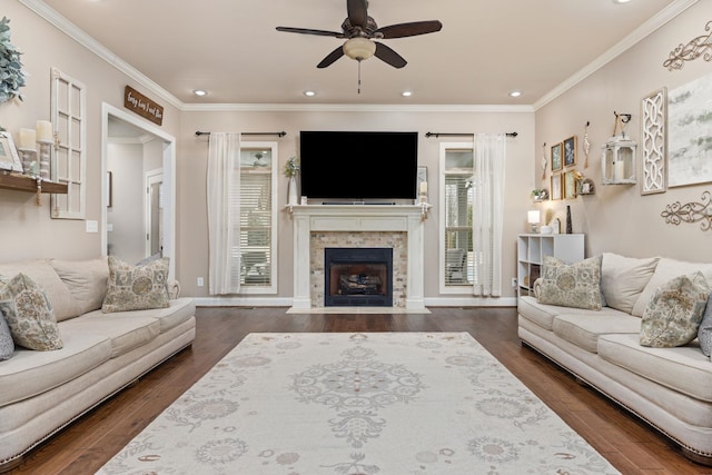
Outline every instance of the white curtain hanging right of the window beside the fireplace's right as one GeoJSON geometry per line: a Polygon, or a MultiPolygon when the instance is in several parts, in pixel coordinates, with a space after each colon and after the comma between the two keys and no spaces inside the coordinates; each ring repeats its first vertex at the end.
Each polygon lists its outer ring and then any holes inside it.
{"type": "Polygon", "coordinates": [[[502,295],[502,226],[506,135],[476,133],[472,210],[474,286],[481,297],[502,295]]]}

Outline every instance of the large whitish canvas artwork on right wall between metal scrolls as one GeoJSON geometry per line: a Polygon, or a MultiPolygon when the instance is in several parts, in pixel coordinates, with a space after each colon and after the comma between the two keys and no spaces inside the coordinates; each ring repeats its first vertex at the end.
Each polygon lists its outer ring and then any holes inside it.
{"type": "Polygon", "coordinates": [[[712,73],[668,91],[668,188],[712,181],[712,73]]]}

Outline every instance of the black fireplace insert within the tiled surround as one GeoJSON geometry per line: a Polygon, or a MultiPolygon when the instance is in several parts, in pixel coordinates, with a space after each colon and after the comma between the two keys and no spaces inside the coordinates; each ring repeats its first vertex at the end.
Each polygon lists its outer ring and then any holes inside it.
{"type": "Polygon", "coordinates": [[[393,249],[324,249],[324,306],[393,306],[393,249]]]}

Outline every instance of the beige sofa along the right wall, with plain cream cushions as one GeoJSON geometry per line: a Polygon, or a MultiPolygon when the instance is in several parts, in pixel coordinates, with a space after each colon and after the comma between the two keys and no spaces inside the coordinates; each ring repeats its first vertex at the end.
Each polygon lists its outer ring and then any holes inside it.
{"type": "Polygon", "coordinates": [[[676,442],[689,458],[712,465],[710,357],[699,339],[671,348],[640,344],[642,316],[656,289],[698,270],[712,287],[712,264],[603,254],[605,306],[571,308],[521,296],[518,336],[676,442]]]}

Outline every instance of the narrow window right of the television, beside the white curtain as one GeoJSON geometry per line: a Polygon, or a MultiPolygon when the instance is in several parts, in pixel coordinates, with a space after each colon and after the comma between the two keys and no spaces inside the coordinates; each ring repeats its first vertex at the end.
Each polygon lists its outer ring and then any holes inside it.
{"type": "Polygon", "coordinates": [[[441,144],[441,291],[473,284],[473,145],[441,144]]]}

